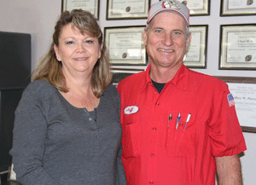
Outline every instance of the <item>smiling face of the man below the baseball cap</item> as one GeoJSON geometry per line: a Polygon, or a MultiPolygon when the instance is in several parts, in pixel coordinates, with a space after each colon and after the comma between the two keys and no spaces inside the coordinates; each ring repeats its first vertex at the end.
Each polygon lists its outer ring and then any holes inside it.
{"type": "Polygon", "coordinates": [[[179,68],[189,47],[190,34],[186,38],[186,23],[178,14],[156,14],[143,32],[148,60],[155,67],[179,68]]]}

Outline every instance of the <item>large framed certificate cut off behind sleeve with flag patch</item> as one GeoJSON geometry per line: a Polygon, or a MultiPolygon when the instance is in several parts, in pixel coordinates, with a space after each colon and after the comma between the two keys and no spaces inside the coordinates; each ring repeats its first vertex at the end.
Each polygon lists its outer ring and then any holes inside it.
{"type": "Polygon", "coordinates": [[[229,85],[241,130],[256,133],[256,78],[216,77],[229,85]]]}

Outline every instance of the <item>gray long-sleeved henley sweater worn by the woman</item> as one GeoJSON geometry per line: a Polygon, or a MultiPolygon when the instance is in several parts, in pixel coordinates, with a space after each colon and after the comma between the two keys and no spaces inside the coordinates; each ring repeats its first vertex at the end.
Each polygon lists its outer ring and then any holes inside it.
{"type": "Polygon", "coordinates": [[[126,184],[120,140],[119,95],[113,85],[96,111],[88,112],[36,80],[15,111],[10,154],[23,185],[126,184]]]}

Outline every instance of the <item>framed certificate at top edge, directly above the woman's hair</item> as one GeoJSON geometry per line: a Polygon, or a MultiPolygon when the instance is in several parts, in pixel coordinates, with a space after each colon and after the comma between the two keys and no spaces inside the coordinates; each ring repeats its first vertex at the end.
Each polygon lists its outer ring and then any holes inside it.
{"type": "Polygon", "coordinates": [[[72,9],[84,9],[94,14],[96,20],[99,19],[100,0],[62,0],[62,11],[71,11],[72,9]]]}

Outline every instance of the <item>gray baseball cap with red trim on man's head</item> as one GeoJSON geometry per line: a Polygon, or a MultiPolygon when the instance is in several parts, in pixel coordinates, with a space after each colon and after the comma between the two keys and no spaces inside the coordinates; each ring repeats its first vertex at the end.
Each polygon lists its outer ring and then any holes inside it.
{"type": "Polygon", "coordinates": [[[182,15],[189,26],[189,9],[177,0],[165,0],[158,3],[154,3],[148,12],[147,24],[154,18],[154,16],[162,11],[175,11],[182,15]]]}

